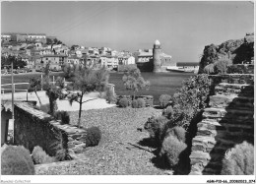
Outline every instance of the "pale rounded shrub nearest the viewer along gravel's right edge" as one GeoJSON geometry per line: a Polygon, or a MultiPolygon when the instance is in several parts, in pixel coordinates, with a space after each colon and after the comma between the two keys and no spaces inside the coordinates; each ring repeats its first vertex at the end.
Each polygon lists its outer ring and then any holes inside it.
{"type": "Polygon", "coordinates": [[[167,159],[171,167],[174,167],[179,162],[179,155],[187,148],[186,144],[179,141],[172,135],[165,137],[160,150],[160,156],[167,159]]]}

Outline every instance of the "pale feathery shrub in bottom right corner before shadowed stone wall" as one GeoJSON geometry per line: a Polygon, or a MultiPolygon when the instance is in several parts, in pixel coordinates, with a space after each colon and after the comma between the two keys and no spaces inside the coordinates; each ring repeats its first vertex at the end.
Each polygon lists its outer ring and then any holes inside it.
{"type": "Polygon", "coordinates": [[[225,154],[223,175],[253,175],[254,147],[247,142],[236,145],[225,154]]]}

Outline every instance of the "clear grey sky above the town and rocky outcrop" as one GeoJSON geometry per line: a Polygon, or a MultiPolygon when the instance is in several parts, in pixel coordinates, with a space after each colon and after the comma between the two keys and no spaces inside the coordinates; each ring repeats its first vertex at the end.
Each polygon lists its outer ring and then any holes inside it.
{"type": "Polygon", "coordinates": [[[67,45],[153,48],[176,62],[199,62],[205,45],[254,31],[249,1],[1,2],[1,32],[55,35],[67,45]]]}

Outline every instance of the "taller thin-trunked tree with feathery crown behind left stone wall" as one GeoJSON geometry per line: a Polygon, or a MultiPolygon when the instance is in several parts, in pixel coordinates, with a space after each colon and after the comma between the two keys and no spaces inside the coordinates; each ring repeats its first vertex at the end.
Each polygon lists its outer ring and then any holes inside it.
{"type": "Polygon", "coordinates": [[[81,122],[82,104],[96,99],[93,98],[83,101],[84,94],[86,92],[105,91],[106,85],[108,84],[108,78],[109,73],[104,67],[100,68],[99,70],[81,68],[81,70],[76,72],[73,87],[80,92],[77,92],[70,97],[70,103],[72,104],[73,101],[77,101],[80,104],[78,127],[80,127],[81,122]]]}

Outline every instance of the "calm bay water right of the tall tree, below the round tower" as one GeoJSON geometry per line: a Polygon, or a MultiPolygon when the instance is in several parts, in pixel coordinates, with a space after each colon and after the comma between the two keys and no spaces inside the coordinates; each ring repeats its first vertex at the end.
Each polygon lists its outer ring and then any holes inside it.
{"type": "MultiPolygon", "coordinates": [[[[192,73],[142,73],[145,80],[150,81],[151,87],[149,91],[137,92],[138,95],[154,95],[154,103],[159,104],[160,94],[167,93],[172,95],[176,89],[182,86],[182,81],[193,76],[192,73]]],[[[109,83],[115,85],[115,92],[118,95],[132,94],[127,91],[122,82],[123,74],[111,73],[109,83]]]]}

